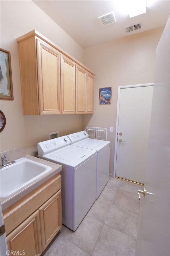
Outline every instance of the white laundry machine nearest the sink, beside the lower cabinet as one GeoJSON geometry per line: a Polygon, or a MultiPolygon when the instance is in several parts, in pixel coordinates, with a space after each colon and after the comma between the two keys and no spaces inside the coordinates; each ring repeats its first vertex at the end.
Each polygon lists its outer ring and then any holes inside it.
{"type": "Polygon", "coordinates": [[[95,150],[70,145],[67,136],[37,144],[38,157],[62,165],[62,223],[76,230],[96,200],[95,150]]]}

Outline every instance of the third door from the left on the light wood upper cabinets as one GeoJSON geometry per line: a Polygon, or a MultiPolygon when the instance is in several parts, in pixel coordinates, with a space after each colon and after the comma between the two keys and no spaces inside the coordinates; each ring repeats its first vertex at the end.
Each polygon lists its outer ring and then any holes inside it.
{"type": "Polygon", "coordinates": [[[86,73],[76,65],[76,114],[86,114],[86,73]]]}

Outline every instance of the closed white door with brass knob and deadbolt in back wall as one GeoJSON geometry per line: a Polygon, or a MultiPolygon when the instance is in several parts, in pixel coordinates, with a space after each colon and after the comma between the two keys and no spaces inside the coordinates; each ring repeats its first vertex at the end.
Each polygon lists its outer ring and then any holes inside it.
{"type": "Polygon", "coordinates": [[[120,89],[116,177],[144,183],[152,95],[153,85],[120,89]]]}

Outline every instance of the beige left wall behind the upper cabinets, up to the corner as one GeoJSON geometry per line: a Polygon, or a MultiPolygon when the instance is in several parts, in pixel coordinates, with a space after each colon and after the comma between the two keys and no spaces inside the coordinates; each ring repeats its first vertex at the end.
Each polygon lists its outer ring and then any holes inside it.
{"type": "Polygon", "coordinates": [[[16,38],[36,29],[59,47],[83,62],[83,49],[32,1],[1,1],[1,48],[11,52],[14,100],[1,100],[6,117],[1,132],[1,152],[26,146],[36,155],[37,142],[48,133],[65,135],[82,130],[82,115],[24,116],[20,89],[19,53],[16,38]]]}

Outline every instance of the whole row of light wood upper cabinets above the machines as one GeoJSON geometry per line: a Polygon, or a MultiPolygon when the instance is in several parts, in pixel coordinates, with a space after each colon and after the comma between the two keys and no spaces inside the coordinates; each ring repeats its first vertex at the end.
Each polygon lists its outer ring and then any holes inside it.
{"type": "Polygon", "coordinates": [[[93,113],[94,73],[36,30],[17,41],[24,115],[93,113]]]}

